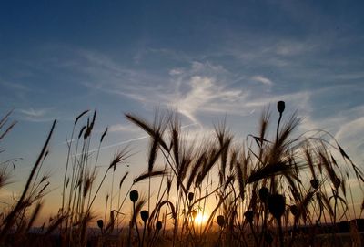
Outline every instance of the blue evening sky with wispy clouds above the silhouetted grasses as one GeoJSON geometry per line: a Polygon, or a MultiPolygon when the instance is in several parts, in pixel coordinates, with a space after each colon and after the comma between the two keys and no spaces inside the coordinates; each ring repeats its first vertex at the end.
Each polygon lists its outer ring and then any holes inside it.
{"type": "Polygon", "coordinates": [[[14,109],[18,123],[0,143],[0,160],[23,158],[9,194],[21,187],[55,118],[45,170],[59,180],[65,141],[85,109],[97,110],[97,133],[110,130],[101,162],[130,143],[134,175],[147,167],[147,139],[124,113],[152,119],[157,108],[177,108],[191,133],[227,118],[244,139],[278,100],[287,114],[297,110],[300,131],[329,130],[363,169],[363,7],[362,1],[3,1],[0,114],[14,109]]]}

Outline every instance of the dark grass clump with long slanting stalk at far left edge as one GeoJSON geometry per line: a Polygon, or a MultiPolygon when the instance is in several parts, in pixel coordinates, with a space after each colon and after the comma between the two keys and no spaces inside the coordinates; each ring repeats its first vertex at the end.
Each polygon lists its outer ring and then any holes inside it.
{"type": "MultiPolygon", "coordinates": [[[[5,138],[11,129],[15,126],[15,121],[8,124],[11,112],[0,120],[0,141],[5,138]]],[[[45,144],[35,160],[35,164],[25,181],[24,189],[21,191],[19,198],[15,200],[14,205],[10,205],[2,212],[0,221],[0,245],[22,246],[26,242],[27,232],[33,227],[35,219],[39,216],[43,207],[43,198],[49,186],[48,176],[39,177],[40,170],[48,155],[48,144],[56,127],[56,120],[45,140],[45,144]]],[[[11,160],[12,162],[14,160],[11,160]]],[[[14,165],[14,164],[13,164],[14,165]]],[[[0,190],[7,184],[9,175],[6,172],[9,166],[9,160],[0,164],[0,190]]],[[[14,167],[15,169],[15,167],[14,167]]],[[[42,232],[44,237],[48,236],[54,230],[55,223],[50,222],[48,229],[42,232]]]]}

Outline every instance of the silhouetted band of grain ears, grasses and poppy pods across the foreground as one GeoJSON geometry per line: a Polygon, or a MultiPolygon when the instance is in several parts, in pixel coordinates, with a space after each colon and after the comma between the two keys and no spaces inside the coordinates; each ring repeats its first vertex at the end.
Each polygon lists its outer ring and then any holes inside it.
{"type": "MultiPolygon", "coordinates": [[[[85,111],[68,141],[59,211],[35,229],[50,185],[41,170],[54,121],[19,198],[1,212],[0,246],[362,246],[363,221],[352,219],[362,216],[354,201],[363,200],[363,172],[325,130],[297,134],[299,119],[282,118],[284,110],[279,101],[273,134],[267,110],[243,143],[225,122],[214,137],[191,140],[177,113],[156,113],[153,122],[126,114],[150,139],[147,170],[131,184],[127,171],[116,173],[130,149],[102,170],[107,129],[92,151],[96,111],[85,111]],[[93,209],[106,180],[102,217],[93,209]],[[145,191],[135,190],[141,181],[145,191]]],[[[15,126],[9,118],[0,120],[0,141],[15,126]]],[[[13,161],[1,164],[0,190],[13,161]]]]}

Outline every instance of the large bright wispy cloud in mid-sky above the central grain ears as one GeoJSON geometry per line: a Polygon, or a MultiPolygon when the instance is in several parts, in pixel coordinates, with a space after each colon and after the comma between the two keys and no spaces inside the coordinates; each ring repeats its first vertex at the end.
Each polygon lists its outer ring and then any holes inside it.
{"type": "MultiPolygon", "coordinates": [[[[299,106],[308,98],[307,91],[280,95],[262,91],[258,85],[248,85],[248,80],[270,87],[273,85],[270,78],[235,74],[208,60],[192,60],[189,67],[175,67],[167,75],[157,75],[126,68],[102,54],[87,51],[80,54],[86,59],[83,71],[94,77],[83,83],[86,87],[131,98],[146,108],[177,107],[192,122],[199,122],[200,114],[204,113],[247,116],[271,102],[287,100],[299,106]]],[[[116,129],[124,130],[124,127],[116,126],[116,129]]]]}

